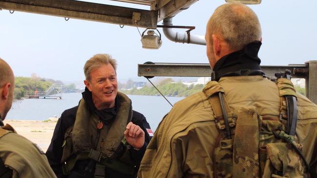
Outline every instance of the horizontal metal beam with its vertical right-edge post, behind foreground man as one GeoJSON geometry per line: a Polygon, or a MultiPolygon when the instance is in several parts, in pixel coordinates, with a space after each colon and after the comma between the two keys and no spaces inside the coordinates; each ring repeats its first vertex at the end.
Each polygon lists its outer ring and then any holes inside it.
{"type": "MultiPolygon", "coordinates": [[[[261,66],[267,77],[275,77],[275,73],[290,70],[293,78],[304,78],[306,81],[306,96],[317,103],[317,61],[305,64],[290,64],[288,66],[261,66]]],[[[177,64],[155,63],[138,64],[138,76],[180,76],[180,77],[210,77],[209,64],[177,64]]]]}

